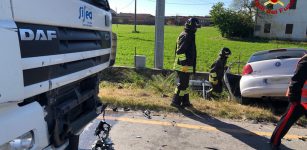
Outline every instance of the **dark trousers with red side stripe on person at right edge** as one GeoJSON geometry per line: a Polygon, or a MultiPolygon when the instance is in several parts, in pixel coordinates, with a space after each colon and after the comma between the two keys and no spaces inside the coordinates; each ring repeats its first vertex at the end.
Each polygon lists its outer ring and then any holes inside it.
{"type": "Polygon", "coordinates": [[[291,103],[286,114],[278,122],[270,143],[274,146],[280,146],[281,139],[287,134],[291,126],[302,116],[307,115],[307,110],[303,107],[305,104],[291,103]]]}

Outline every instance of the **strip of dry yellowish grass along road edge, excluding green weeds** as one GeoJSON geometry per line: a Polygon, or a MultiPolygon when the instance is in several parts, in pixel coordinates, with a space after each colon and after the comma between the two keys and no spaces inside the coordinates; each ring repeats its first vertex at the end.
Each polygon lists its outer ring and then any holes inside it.
{"type": "MultiPolygon", "coordinates": [[[[112,106],[129,107],[132,110],[149,109],[154,111],[178,112],[176,108],[170,106],[171,97],[162,97],[148,89],[104,86],[104,88],[101,88],[99,96],[103,102],[109,103],[112,106]]],[[[228,100],[208,101],[194,97],[191,102],[195,109],[213,117],[239,120],[248,119],[259,122],[276,122],[278,119],[270,110],[243,106],[228,100]]]]}

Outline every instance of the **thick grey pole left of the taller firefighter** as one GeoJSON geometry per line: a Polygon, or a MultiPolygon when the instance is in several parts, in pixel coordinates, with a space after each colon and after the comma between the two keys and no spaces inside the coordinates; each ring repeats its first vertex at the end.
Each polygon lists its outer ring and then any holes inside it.
{"type": "Polygon", "coordinates": [[[155,68],[163,69],[165,0],[157,0],[155,34],[155,68]]]}

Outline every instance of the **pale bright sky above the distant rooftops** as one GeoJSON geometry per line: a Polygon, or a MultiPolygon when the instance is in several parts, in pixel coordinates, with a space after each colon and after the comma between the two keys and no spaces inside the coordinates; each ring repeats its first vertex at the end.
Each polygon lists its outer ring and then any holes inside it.
{"type": "MultiPolygon", "coordinates": [[[[134,13],[135,0],[109,0],[110,6],[117,13],[134,13]]],[[[231,5],[232,0],[165,0],[166,16],[207,16],[212,5],[223,2],[231,5]]],[[[156,0],[137,0],[137,13],[155,15],[156,0]]]]}

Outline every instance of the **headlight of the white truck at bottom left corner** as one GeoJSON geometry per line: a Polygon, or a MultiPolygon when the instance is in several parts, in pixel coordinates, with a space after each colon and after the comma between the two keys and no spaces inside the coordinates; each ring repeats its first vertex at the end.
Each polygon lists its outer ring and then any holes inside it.
{"type": "Polygon", "coordinates": [[[34,145],[34,134],[33,131],[23,134],[18,138],[0,145],[0,150],[29,150],[34,145]]]}

